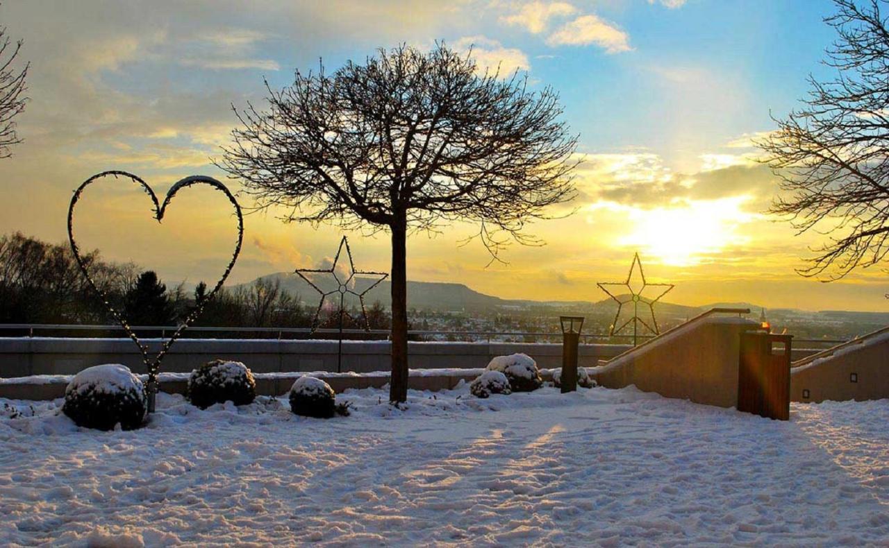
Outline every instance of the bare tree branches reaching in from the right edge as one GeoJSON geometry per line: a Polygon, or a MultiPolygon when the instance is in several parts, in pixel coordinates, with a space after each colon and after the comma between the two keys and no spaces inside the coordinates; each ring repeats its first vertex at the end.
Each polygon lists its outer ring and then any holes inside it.
{"type": "Polygon", "coordinates": [[[781,179],[770,212],[798,233],[829,235],[800,274],[841,278],[889,252],[889,28],[886,0],[835,0],[825,20],[838,38],[824,63],[826,82],[809,77],[805,107],[776,120],[757,145],[781,179]]]}

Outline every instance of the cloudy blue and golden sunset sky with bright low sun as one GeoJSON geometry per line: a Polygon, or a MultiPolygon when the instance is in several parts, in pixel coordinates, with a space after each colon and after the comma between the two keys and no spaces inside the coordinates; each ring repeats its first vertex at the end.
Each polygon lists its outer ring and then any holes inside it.
{"type": "MultiPolygon", "coordinates": [[[[799,106],[808,75],[831,74],[820,61],[832,11],[827,0],[6,0],[0,24],[24,40],[31,65],[25,142],[0,160],[0,234],[64,242],[71,193],[99,171],[132,171],[159,195],[184,176],[222,179],[212,159],[230,142],[232,106],[261,105],[263,79],[281,88],[320,60],[334,70],[380,47],[437,40],[559,92],[580,136],[579,197],[572,216],[530,227],[546,246],[514,245],[506,265],[461,244],[472,226],[412,234],[409,279],[599,300],[596,282],[626,278],[638,251],[649,282],[677,284],[671,302],[882,311],[885,269],[830,283],[796,273],[823,236],[765,213],[778,188],[751,144],[774,129],[770,115],[799,106]]],[[[148,206],[119,180],[91,187],[78,241],[168,283],[212,281],[235,237],[224,197],[189,189],[161,225],[148,206]]],[[[340,229],[281,214],[247,215],[229,282],[335,253],[340,229]]],[[[346,234],[356,267],[388,270],[387,234],[346,234]]]]}

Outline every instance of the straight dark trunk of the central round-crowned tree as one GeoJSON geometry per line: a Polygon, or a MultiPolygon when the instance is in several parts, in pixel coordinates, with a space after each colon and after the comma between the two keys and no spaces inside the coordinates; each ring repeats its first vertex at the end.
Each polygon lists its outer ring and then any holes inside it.
{"type": "Polygon", "coordinates": [[[392,378],[389,401],[407,401],[407,219],[392,228],[392,378]]]}

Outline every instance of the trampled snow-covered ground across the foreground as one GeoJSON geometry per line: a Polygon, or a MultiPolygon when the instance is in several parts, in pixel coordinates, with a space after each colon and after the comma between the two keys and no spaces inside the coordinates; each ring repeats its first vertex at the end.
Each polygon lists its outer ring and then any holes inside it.
{"type": "Polygon", "coordinates": [[[386,396],[324,420],[162,394],[111,433],[0,401],[0,544],[889,544],[889,400],[779,422],[635,388],[386,396]]]}

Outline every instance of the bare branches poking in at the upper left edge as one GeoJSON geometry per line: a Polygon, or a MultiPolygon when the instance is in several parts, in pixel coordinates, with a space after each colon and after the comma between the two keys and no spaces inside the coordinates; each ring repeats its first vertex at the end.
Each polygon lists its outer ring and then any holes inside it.
{"type": "Polygon", "coordinates": [[[10,147],[21,142],[14,118],[25,109],[28,100],[25,77],[29,67],[26,64],[21,70],[13,68],[21,44],[21,40],[13,44],[6,28],[0,27],[0,158],[10,157],[10,147]]]}

